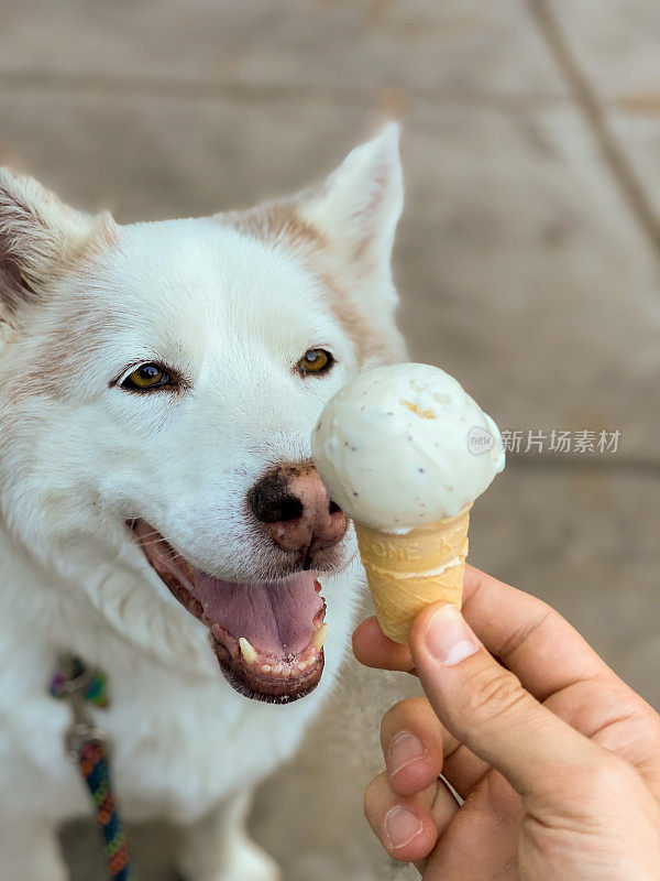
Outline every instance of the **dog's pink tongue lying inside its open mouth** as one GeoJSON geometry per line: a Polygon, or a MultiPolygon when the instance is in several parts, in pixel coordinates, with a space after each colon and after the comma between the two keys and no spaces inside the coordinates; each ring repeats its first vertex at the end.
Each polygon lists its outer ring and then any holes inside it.
{"type": "Polygon", "coordinates": [[[316,630],[323,600],[316,573],[300,572],[283,581],[233,584],[195,573],[195,596],[206,617],[239,640],[245,637],[260,654],[283,657],[305,649],[316,630]]]}

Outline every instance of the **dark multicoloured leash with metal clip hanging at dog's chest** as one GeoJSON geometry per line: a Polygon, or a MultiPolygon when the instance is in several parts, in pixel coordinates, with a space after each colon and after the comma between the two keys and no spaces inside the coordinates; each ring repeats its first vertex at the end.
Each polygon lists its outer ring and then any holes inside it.
{"type": "Polygon", "coordinates": [[[103,837],[103,855],[111,881],[135,881],[131,869],[127,834],[112,792],[108,762],[108,737],[95,727],[88,704],[109,706],[108,683],[98,670],[77,657],[63,657],[53,673],[50,692],[68,700],[74,722],[66,732],[66,751],[76,762],[91,794],[97,825],[103,837]]]}

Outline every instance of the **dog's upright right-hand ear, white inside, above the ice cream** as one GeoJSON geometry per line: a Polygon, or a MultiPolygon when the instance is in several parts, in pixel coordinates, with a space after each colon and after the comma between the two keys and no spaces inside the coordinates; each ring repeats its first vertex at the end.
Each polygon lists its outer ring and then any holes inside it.
{"type": "Polygon", "coordinates": [[[404,203],[398,126],[386,126],[355,148],[299,205],[302,218],[365,269],[389,271],[394,233],[404,203]]]}

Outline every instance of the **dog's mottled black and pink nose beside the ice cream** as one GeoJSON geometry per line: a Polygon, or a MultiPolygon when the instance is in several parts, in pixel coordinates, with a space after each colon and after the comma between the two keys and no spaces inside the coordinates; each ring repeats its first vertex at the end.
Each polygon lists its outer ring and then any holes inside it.
{"type": "Polygon", "coordinates": [[[343,537],[349,523],[311,463],[274,468],[252,487],[248,499],[284,551],[329,547],[343,537]]]}

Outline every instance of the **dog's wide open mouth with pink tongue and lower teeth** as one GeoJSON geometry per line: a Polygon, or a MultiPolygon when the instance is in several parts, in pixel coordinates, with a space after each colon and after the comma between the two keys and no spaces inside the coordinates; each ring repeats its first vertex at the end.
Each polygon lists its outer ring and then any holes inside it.
{"type": "Polygon", "coordinates": [[[223,581],[194,569],[143,520],[132,525],[161,579],[209,628],[222,672],[238,692],[285,704],[316,688],[328,632],[316,573],[258,584],[223,581]]]}

